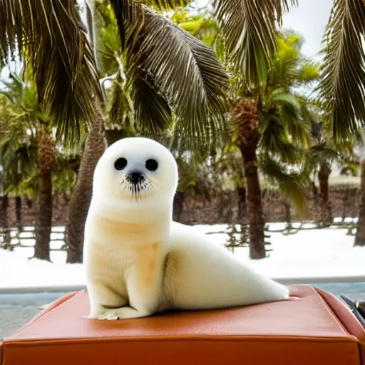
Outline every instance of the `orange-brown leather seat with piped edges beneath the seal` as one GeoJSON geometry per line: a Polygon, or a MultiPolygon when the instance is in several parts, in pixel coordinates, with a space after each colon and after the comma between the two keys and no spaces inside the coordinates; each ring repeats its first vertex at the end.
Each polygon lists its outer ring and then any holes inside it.
{"type": "Polygon", "coordinates": [[[322,290],[290,289],[299,299],[110,322],[82,317],[85,291],[68,294],[4,339],[0,364],[361,364],[353,314],[322,290]]]}

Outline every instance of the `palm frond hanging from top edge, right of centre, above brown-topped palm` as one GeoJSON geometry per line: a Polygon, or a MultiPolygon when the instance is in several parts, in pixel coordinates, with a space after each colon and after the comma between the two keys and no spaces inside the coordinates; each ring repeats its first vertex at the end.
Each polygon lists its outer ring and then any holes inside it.
{"type": "Polygon", "coordinates": [[[227,52],[236,58],[247,83],[264,84],[277,53],[275,21],[281,24],[287,0],[213,0],[216,18],[226,41],[227,52]]]}

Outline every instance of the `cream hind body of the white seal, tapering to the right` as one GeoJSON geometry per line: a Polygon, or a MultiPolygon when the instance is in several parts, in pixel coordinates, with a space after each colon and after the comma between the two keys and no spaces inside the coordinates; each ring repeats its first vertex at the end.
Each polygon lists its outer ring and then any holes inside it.
{"type": "Polygon", "coordinates": [[[287,287],[255,272],[195,228],[173,222],[164,282],[168,307],[212,309],[287,299],[287,287]]]}

